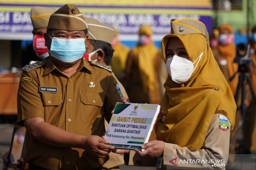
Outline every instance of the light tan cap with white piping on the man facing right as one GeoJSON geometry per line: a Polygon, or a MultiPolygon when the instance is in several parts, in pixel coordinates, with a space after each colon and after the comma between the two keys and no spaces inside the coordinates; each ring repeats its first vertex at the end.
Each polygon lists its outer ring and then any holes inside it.
{"type": "Polygon", "coordinates": [[[104,41],[112,44],[116,30],[113,26],[101,23],[97,19],[84,17],[88,28],[88,40],[104,41]]]}

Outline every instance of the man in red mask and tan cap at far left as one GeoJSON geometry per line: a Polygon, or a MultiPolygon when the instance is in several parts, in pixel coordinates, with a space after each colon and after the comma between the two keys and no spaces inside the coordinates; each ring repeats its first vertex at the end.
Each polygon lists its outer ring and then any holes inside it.
{"type": "Polygon", "coordinates": [[[34,6],[31,8],[31,21],[33,25],[33,43],[23,49],[21,63],[22,66],[35,63],[36,61],[43,61],[49,56],[47,48],[44,43],[44,33],[50,18],[50,15],[56,9],[44,6],[34,6]],[[34,50],[33,50],[34,49],[34,50]]]}

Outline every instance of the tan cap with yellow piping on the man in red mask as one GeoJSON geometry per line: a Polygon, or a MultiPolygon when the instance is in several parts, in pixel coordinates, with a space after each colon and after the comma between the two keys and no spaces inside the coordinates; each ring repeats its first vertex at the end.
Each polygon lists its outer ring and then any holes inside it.
{"type": "Polygon", "coordinates": [[[34,29],[47,27],[50,15],[56,9],[44,6],[33,6],[31,8],[31,21],[34,29]]]}

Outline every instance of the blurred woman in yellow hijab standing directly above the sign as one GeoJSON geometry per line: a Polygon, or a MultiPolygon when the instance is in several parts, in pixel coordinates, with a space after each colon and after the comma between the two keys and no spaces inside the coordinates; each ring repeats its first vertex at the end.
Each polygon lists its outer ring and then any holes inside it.
{"type": "Polygon", "coordinates": [[[126,61],[127,94],[132,103],[159,104],[161,100],[159,67],[161,53],[151,38],[150,26],[139,30],[139,42],[126,61]]]}

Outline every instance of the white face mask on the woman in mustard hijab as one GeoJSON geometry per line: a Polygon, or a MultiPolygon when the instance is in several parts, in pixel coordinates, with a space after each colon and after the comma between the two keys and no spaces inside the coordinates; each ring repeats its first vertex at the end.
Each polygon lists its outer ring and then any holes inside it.
{"type": "MultiPolygon", "coordinates": [[[[197,58],[198,62],[196,63],[196,67],[201,60],[203,53],[204,52],[202,52],[197,58]]],[[[196,62],[196,60],[194,61],[194,63],[196,62]]],[[[192,61],[188,60],[187,58],[173,55],[172,58],[166,60],[166,67],[172,80],[176,83],[181,84],[188,81],[188,79],[191,77],[192,73],[196,69],[196,67],[194,68],[194,63],[192,63],[192,61]]]]}

